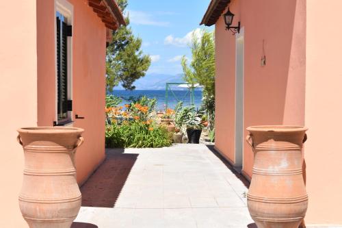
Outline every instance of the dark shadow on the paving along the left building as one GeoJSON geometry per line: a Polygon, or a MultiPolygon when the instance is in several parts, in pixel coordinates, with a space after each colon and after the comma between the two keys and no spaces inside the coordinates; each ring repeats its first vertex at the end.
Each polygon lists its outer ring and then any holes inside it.
{"type": "Polygon", "coordinates": [[[137,154],[106,149],[106,159],[81,186],[83,207],[114,207],[131,172],[137,154]]]}

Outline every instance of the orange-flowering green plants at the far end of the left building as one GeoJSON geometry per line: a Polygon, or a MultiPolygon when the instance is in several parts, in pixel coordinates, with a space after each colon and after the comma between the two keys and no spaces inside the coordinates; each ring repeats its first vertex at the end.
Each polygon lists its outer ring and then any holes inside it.
{"type": "Polygon", "coordinates": [[[155,99],[142,97],[123,106],[105,108],[106,147],[168,147],[171,136],[156,124],[155,99]]]}

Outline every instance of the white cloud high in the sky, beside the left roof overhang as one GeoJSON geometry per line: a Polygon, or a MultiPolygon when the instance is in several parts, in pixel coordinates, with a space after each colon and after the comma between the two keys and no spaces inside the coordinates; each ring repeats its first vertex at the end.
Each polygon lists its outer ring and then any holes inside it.
{"type": "Polygon", "coordinates": [[[166,21],[158,21],[153,18],[152,14],[143,11],[129,10],[129,20],[135,25],[155,25],[167,27],[170,23],[166,21]]]}

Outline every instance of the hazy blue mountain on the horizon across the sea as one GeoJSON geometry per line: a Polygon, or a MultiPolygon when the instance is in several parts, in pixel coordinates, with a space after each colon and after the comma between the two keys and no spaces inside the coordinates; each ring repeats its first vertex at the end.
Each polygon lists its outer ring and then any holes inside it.
{"type": "MultiPolygon", "coordinates": [[[[163,75],[163,74],[148,74],[134,82],[136,90],[165,90],[167,82],[184,82],[183,74],[178,75],[163,75]]],[[[115,88],[116,90],[124,90],[122,86],[115,88]]]]}

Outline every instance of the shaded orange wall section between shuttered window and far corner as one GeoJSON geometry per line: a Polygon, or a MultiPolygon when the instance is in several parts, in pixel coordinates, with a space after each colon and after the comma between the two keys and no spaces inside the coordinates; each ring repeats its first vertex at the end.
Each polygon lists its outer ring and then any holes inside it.
{"type": "Polygon", "coordinates": [[[74,127],[85,129],[82,147],[77,149],[77,181],[83,183],[105,159],[105,24],[86,0],[74,5],[73,26],[73,111],[74,127]]]}

